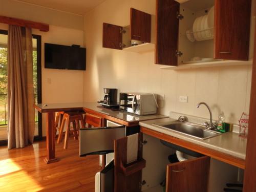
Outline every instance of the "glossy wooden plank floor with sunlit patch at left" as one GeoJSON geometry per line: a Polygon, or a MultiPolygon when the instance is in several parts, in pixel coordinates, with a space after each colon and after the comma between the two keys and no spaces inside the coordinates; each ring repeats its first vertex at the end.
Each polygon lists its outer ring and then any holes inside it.
{"type": "Polygon", "coordinates": [[[0,191],[94,191],[99,156],[79,157],[79,141],[56,145],[60,161],[45,164],[46,142],[7,150],[0,147],[0,191]]]}

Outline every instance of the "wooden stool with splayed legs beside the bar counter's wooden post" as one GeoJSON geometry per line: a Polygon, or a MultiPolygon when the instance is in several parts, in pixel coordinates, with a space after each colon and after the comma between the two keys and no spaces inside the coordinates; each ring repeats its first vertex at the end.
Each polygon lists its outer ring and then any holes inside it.
{"type": "Polygon", "coordinates": [[[85,127],[82,114],[83,112],[66,112],[63,115],[63,119],[59,129],[59,135],[57,139],[57,143],[60,143],[62,141],[62,134],[60,133],[63,133],[64,127],[67,124],[67,130],[65,133],[63,148],[65,149],[68,148],[70,134],[74,137],[75,140],[77,140],[79,135],[79,129],[82,127],[85,127]],[[81,122],[81,127],[80,127],[80,122],[81,122]],[[71,126],[70,126],[71,123],[73,124],[73,129],[71,129],[71,126]]]}

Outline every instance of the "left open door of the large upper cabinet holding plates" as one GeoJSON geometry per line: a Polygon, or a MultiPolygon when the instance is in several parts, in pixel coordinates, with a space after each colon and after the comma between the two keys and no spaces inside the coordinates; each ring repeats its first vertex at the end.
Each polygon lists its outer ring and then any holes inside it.
{"type": "Polygon", "coordinates": [[[177,66],[180,4],[174,0],[156,1],[156,64],[177,66]]]}

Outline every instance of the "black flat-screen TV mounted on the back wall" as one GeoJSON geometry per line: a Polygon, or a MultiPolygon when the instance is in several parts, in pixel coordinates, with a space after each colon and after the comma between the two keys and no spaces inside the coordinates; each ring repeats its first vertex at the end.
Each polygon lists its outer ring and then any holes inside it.
{"type": "Polygon", "coordinates": [[[86,48],[45,44],[45,68],[86,70],[86,48]]]}

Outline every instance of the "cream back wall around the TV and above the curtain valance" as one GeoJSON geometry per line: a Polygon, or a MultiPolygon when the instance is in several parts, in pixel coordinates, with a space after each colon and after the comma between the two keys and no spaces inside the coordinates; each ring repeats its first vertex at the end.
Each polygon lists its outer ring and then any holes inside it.
{"type": "MultiPolygon", "coordinates": [[[[42,102],[82,102],[84,71],[45,69],[44,44],[84,47],[83,16],[10,0],[0,0],[0,15],[51,24],[49,32],[32,30],[41,35],[42,102]]],[[[0,29],[8,30],[8,25],[0,24],[0,29]]],[[[46,135],[46,115],[42,117],[42,135],[46,135]]]]}

